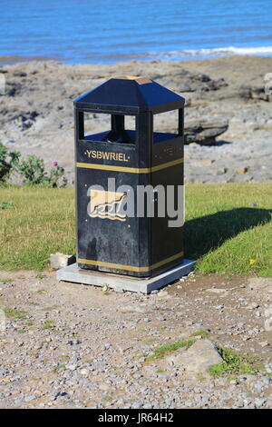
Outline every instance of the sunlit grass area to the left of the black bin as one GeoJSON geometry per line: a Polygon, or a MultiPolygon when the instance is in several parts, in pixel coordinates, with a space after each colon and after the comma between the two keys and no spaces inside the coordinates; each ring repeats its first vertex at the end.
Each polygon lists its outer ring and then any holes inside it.
{"type": "Polygon", "coordinates": [[[50,253],[74,253],[73,188],[6,186],[1,199],[13,209],[0,214],[0,268],[43,271],[50,253]]]}

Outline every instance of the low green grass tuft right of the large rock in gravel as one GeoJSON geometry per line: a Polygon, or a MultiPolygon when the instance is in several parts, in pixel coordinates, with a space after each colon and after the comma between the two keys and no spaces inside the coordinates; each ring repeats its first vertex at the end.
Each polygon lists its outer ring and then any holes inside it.
{"type": "Polygon", "coordinates": [[[226,347],[219,347],[219,354],[223,362],[214,364],[209,367],[209,373],[215,377],[225,376],[228,374],[241,374],[263,371],[264,366],[255,356],[243,356],[226,347]]]}

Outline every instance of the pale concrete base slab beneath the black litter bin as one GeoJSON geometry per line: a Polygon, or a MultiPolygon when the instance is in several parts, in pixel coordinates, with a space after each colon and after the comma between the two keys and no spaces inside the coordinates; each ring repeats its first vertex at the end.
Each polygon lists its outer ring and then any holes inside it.
{"type": "Polygon", "coordinates": [[[109,286],[109,288],[113,288],[117,292],[151,293],[189,274],[193,270],[195,263],[196,261],[184,260],[183,263],[171,268],[169,271],[147,279],[83,270],[78,267],[77,263],[61,268],[57,271],[56,276],[59,281],[109,286]]]}

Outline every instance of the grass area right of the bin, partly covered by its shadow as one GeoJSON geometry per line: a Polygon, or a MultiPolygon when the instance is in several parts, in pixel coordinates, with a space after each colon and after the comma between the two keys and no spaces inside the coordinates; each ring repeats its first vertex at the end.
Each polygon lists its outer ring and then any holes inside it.
{"type": "Polygon", "coordinates": [[[272,184],[188,185],[185,255],[196,271],[272,276],[271,200],[272,184]]]}

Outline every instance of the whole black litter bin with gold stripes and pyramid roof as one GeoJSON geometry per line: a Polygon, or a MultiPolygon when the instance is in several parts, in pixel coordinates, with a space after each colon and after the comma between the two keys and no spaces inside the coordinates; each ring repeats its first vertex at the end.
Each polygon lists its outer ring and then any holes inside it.
{"type": "Polygon", "coordinates": [[[171,188],[173,208],[183,186],[183,118],[184,98],[145,77],[111,78],[74,101],[80,268],[151,277],[182,263],[182,223],[170,226],[162,193],[171,188]],[[154,114],[170,110],[177,132],[153,132],[154,114]],[[110,129],[88,134],[90,113],[110,114],[110,129]]]}

